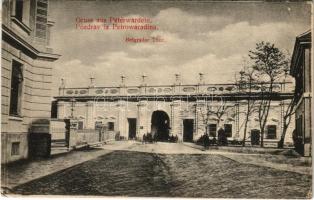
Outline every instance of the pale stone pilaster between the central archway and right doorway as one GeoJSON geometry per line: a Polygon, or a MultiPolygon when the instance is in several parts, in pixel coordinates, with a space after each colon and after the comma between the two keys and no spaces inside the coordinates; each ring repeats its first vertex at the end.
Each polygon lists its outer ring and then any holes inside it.
{"type": "Polygon", "coordinates": [[[178,141],[183,141],[181,100],[175,100],[171,104],[171,134],[178,136],[178,141]]]}

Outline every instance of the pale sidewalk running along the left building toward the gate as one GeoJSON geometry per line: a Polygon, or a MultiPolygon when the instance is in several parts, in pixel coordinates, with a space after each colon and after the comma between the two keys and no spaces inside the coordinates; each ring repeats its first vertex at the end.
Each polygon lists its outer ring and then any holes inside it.
{"type": "Polygon", "coordinates": [[[67,169],[116,149],[128,149],[133,143],[110,142],[100,148],[71,151],[47,159],[23,161],[1,166],[1,187],[11,189],[17,185],[67,169]]]}

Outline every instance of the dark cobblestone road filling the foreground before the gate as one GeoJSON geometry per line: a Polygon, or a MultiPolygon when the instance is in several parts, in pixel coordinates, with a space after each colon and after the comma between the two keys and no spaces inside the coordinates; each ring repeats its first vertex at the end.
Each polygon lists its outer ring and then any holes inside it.
{"type": "Polygon", "coordinates": [[[310,175],[243,164],[223,155],[193,152],[161,154],[154,148],[138,144],[134,148],[144,150],[117,150],[19,185],[14,188],[14,193],[210,198],[310,197],[310,175]]]}

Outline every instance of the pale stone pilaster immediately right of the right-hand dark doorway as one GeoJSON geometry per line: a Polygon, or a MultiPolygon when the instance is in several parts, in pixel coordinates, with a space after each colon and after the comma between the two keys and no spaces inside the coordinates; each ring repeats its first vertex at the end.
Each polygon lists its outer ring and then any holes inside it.
{"type": "Polygon", "coordinates": [[[201,135],[203,135],[206,131],[206,124],[204,124],[204,119],[208,116],[206,116],[207,108],[206,108],[206,102],[205,100],[196,100],[196,127],[195,127],[195,135],[193,138],[199,138],[201,135]]]}

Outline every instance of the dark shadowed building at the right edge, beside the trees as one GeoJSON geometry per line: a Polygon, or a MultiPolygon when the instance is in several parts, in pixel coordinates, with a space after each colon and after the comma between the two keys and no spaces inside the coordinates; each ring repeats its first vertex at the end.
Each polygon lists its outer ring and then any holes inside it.
{"type": "Polygon", "coordinates": [[[311,156],[312,143],[312,71],[311,32],[296,38],[290,74],[295,78],[295,126],[296,135],[302,138],[299,149],[304,156],[311,156]]]}

